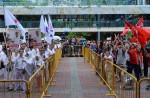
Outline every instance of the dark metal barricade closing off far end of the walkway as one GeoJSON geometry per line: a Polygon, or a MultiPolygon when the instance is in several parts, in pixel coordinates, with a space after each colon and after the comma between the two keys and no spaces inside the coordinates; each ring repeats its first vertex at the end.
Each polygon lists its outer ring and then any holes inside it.
{"type": "Polygon", "coordinates": [[[64,45],[63,56],[64,57],[81,57],[82,46],[81,45],[64,45]]]}

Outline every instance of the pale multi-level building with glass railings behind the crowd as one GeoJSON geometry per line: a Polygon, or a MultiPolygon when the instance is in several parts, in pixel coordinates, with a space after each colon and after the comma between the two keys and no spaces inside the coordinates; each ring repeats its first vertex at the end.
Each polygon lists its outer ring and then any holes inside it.
{"type": "MultiPolygon", "coordinates": [[[[105,33],[121,33],[125,17],[136,24],[144,16],[150,26],[149,0],[9,0],[0,1],[16,15],[23,27],[39,28],[40,15],[51,16],[56,32],[95,32],[98,39],[105,33]]],[[[0,32],[5,32],[3,7],[0,7],[0,32]]]]}

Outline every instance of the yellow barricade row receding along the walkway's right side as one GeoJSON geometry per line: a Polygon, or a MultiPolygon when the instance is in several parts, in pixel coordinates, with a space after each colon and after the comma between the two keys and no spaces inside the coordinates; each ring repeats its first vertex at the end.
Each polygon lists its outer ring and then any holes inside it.
{"type": "Polygon", "coordinates": [[[96,52],[84,47],[84,57],[90,63],[94,72],[100,77],[103,83],[110,89],[106,95],[115,98],[137,98],[138,81],[126,68],[119,67],[112,62],[105,60],[96,52]],[[120,76],[120,80],[118,77],[120,76]]]}

